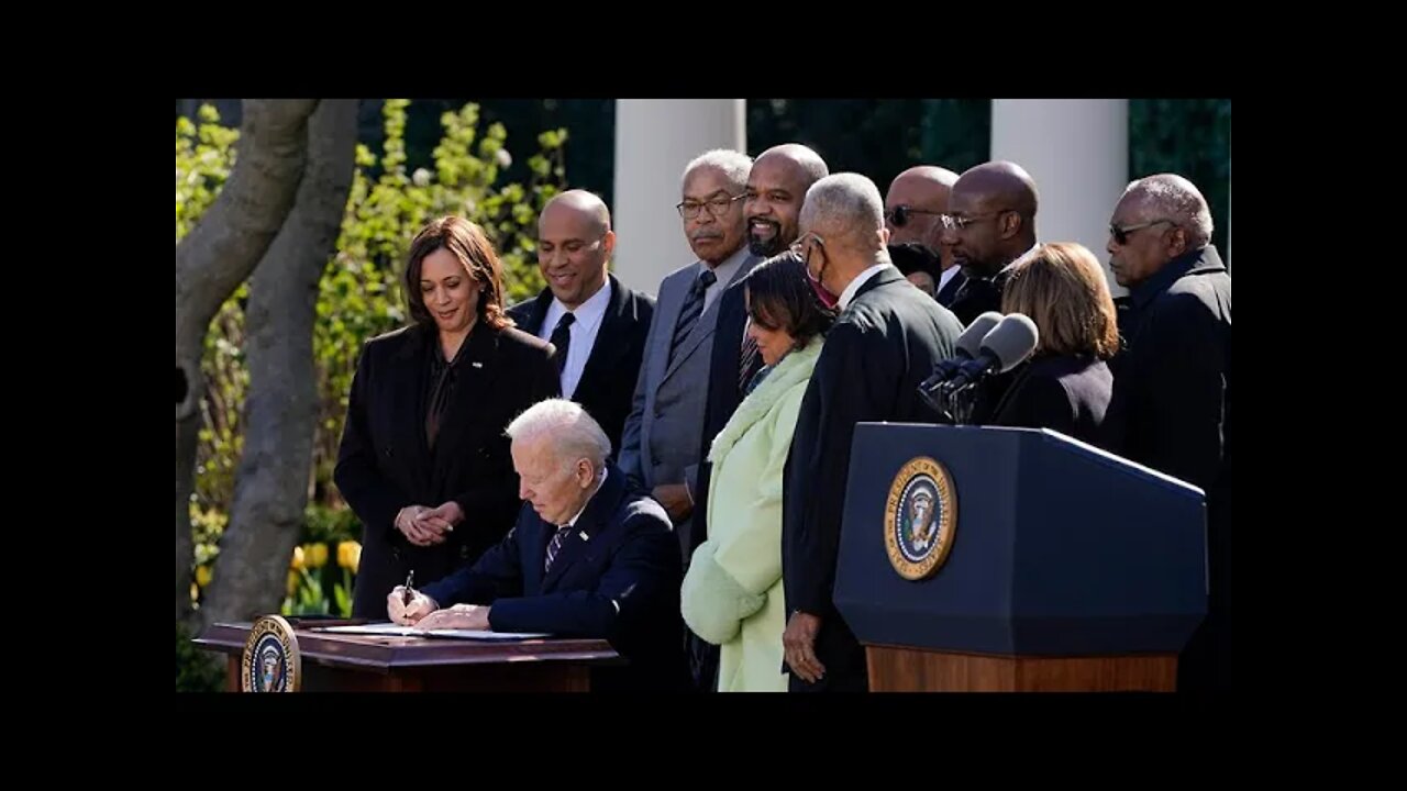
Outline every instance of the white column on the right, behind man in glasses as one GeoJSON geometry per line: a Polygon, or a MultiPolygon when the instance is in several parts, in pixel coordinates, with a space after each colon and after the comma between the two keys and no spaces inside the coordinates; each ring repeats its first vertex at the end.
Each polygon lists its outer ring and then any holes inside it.
{"type": "Polygon", "coordinates": [[[1128,186],[1128,100],[995,99],[992,159],[1016,162],[1036,179],[1038,242],[1079,242],[1109,272],[1109,217],[1128,186]]]}

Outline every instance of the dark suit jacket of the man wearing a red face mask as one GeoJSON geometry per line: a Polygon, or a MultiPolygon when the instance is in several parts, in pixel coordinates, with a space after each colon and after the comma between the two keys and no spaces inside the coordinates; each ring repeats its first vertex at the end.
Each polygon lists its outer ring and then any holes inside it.
{"type": "MultiPolygon", "coordinates": [[[[822,618],[820,687],[865,684],[864,652],[832,602],[855,424],[938,422],[917,388],[934,363],[953,356],[961,331],[948,308],[889,266],[860,287],[826,334],[796,418],[782,491],[787,609],[822,618]]],[[[792,677],[792,688],[809,687],[792,677]]]]}

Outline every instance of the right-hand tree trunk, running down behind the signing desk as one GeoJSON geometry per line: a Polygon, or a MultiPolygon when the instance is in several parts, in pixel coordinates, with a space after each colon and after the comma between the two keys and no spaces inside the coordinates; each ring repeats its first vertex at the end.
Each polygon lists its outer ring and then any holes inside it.
{"type": "Polygon", "coordinates": [[[243,455],[201,621],[279,611],[308,501],[318,393],[312,322],[318,281],[335,255],[357,138],[357,101],[325,99],[308,122],[297,201],[249,283],[243,455]]]}

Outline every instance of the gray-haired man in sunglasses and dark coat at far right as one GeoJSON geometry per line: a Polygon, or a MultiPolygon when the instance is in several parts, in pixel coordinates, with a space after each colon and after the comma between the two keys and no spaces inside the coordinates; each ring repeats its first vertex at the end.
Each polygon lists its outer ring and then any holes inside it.
{"type": "Polygon", "coordinates": [[[1231,274],[1192,182],[1128,184],[1109,221],[1109,266],[1128,287],[1104,428],[1109,448],[1207,493],[1207,619],[1178,663],[1179,690],[1227,688],[1231,533],[1231,274]]]}

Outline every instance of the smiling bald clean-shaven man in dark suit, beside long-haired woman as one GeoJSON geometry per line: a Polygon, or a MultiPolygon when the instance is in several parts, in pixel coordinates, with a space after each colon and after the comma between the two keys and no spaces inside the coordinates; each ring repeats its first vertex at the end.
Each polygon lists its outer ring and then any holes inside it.
{"type": "Polygon", "coordinates": [[[619,448],[654,298],[606,272],[612,251],[611,211],[599,197],[568,190],[552,198],[537,218],[537,267],[547,287],[508,317],[552,341],[563,397],[585,407],[619,448]]]}

